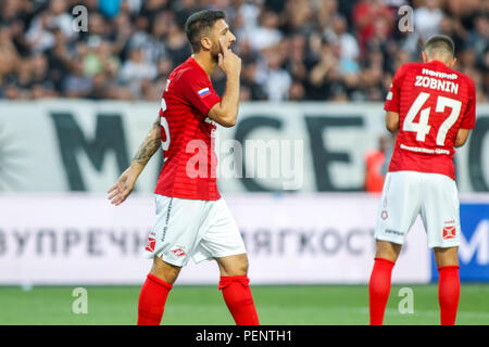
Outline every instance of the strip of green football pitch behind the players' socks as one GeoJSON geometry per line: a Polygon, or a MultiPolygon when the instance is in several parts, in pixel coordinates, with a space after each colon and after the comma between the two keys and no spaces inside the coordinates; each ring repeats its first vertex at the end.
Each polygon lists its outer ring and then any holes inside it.
{"type": "MultiPolygon", "coordinates": [[[[0,324],[135,324],[139,287],[86,286],[87,313],[73,313],[74,286],[30,290],[0,287],[0,324]]],[[[438,324],[437,285],[394,285],[387,304],[385,324],[438,324]],[[414,312],[400,296],[413,292],[414,312]],[[402,291],[401,291],[402,293],[402,291]]],[[[366,285],[252,286],[262,324],[367,324],[366,285]]],[[[163,324],[234,324],[217,286],[175,285],[168,296],[163,324]]],[[[463,284],[457,324],[489,324],[489,284],[463,284]]]]}

